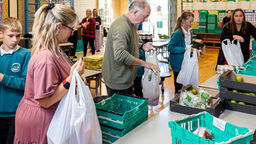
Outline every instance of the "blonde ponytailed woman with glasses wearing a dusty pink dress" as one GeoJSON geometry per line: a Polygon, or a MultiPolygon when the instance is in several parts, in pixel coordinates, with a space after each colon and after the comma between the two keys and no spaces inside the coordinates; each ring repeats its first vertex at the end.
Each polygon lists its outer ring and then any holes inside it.
{"type": "Polygon", "coordinates": [[[76,68],[80,75],[84,71],[82,59],[73,65],[59,47],[77,25],[76,13],[65,5],[43,5],[37,10],[25,95],[15,118],[14,143],[47,143],[46,132],[59,101],[68,92],[73,70],[76,68]]]}

